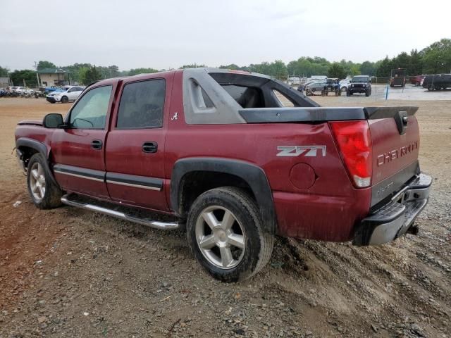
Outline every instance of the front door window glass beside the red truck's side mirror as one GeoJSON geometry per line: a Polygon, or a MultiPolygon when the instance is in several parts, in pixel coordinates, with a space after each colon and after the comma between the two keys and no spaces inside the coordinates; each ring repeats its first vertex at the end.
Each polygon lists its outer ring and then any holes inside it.
{"type": "Polygon", "coordinates": [[[113,86],[89,90],[70,111],[70,126],[78,129],[105,127],[106,114],[113,86]]]}

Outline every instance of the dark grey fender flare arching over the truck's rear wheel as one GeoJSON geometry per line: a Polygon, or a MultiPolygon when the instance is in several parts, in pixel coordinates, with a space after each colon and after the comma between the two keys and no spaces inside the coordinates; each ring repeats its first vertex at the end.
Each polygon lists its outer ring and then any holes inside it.
{"type": "Polygon", "coordinates": [[[183,176],[193,171],[227,173],[247,182],[257,199],[264,230],[271,234],[276,233],[276,211],[266,174],[259,166],[240,160],[197,157],[176,161],[171,176],[171,208],[175,213],[180,210],[180,183],[183,176]]]}

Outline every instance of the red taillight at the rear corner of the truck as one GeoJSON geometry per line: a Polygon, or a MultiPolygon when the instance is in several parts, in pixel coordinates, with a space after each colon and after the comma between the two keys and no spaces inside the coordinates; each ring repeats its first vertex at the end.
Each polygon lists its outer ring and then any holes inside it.
{"type": "Polygon", "coordinates": [[[331,122],[330,127],[355,187],[371,185],[373,161],[371,134],[366,121],[331,122]]]}

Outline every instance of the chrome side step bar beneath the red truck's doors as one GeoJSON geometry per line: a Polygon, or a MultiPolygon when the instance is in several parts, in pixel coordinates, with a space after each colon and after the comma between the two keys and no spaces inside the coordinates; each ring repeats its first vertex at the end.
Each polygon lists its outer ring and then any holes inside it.
{"type": "Polygon", "coordinates": [[[61,197],[61,203],[68,206],[75,206],[76,208],[82,208],[89,211],[95,211],[97,213],[103,213],[104,215],[113,216],[120,218],[121,220],[128,220],[133,223],[138,223],[140,225],[146,225],[147,227],[153,227],[160,230],[174,230],[180,227],[177,222],[161,222],[159,220],[148,220],[147,218],[137,218],[132,215],[127,215],[121,211],[116,211],[109,208],[104,208],[103,206],[96,206],[94,204],[82,203],[79,201],[73,201],[68,198],[68,195],[61,197]]]}

